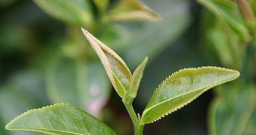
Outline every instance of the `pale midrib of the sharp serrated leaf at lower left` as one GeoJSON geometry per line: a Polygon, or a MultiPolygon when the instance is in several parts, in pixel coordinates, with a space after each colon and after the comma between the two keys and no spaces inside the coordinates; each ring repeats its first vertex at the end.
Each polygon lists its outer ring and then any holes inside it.
{"type": "Polygon", "coordinates": [[[66,132],[66,133],[72,133],[72,134],[78,134],[78,135],[93,135],[93,134],[81,134],[81,133],[76,133],[76,132],[70,132],[70,131],[61,131],[61,130],[55,130],[55,129],[48,129],[48,128],[8,128],[12,130],[27,130],[27,131],[41,131],[43,133],[48,133],[48,134],[53,134],[53,135],[62,135],[62,134],[55,134],[51,132],[47,132],[45,130],[49,131],[58,131],[58,132],[66,132]]]}

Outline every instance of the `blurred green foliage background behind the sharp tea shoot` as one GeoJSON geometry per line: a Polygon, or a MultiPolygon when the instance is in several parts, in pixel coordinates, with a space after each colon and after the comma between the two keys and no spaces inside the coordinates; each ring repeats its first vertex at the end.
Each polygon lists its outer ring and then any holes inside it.
{"type": "Polygon", "coordinates": [[[81,26],[132,69],[149,57],[136,112],[181,68],[241,71],[236,82],[146,125],[144,134],[256,134],[254,0],[247,8],[231,0],[0,0],[0,12],[0,134],[39,134],[7,131],[4,125],[27,110],[59,102],[80,107],[118,134],[132,134],[129,115],[81,26]],[[245,9],[253,17],[245,16],[245,9]]]}

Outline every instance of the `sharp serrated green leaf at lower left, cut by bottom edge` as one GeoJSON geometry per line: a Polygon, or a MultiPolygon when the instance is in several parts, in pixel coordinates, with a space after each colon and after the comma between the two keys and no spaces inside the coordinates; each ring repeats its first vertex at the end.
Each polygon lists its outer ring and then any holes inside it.
{"type": "Polygon", "coordinates": [[[12,120],[5,128],[54,135],[116,134],[103,122],[69,104],[55,104],[30,110],[12,120]]]}

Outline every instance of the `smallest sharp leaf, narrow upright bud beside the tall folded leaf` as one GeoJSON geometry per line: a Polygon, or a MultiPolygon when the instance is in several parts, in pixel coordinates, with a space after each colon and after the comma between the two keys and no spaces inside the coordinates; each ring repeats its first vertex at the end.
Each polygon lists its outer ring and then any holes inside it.
{"type": "Polygon", "coordinates": [[[140,86],[140,80],[143,75],[144,68],[147,63],[147,57],[142,61],[142,63],[135,69],[133,76],[131,78],[131,95],[133,98],[137,96],[137,91],[140,86]]]}

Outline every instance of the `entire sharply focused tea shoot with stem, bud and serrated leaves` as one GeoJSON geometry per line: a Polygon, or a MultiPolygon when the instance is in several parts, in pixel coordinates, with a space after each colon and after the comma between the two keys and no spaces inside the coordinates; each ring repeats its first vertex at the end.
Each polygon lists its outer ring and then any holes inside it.
{"type": "MultiPolygon", "coordinates": [[[[132,74],[116,52],[88,31],[82,29],[82,32],[97,53],[117,94],[122,98],[136,135],[143,133],[145,124],[177,111],[205,91],[240,76],[240,72],[236,70],[211,66],[179,70],[159,85],[143,113],[136,115],[132,102],[136,98],[147,57],[132,74]]],[[[65,103],[30,110],[8,123],[6,129],[48,134],[116,134],[92,115],[65,103]]]]}

